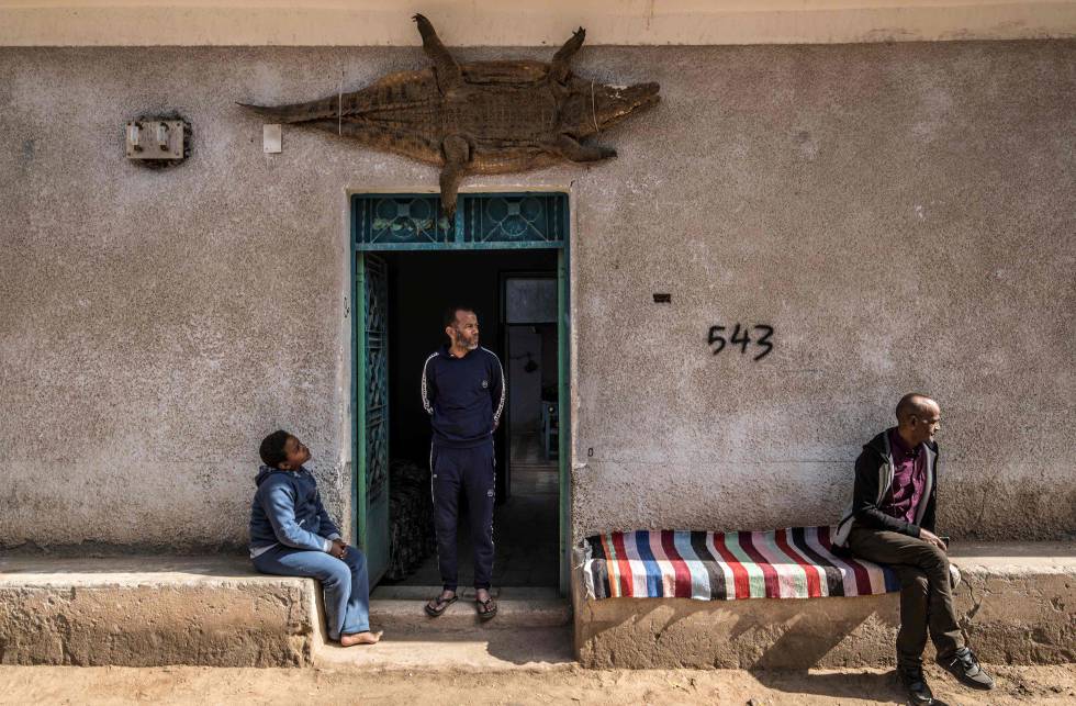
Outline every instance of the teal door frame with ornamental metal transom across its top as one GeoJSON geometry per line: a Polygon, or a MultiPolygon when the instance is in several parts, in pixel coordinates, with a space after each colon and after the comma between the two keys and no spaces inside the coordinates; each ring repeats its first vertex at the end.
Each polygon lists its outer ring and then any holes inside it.
{"type": "MultiPolygon", "coordinates": [[[[367,256],[378,253],[434,250],[557,250],[558,292],[558,435],[560,592],[568,595],[571,568],[571,253],[569,197],[564,192],[461,193],[456,218],[440,215],[436,193],[351,193],[351,507],[355,517],[352,542],[368,554],[380,556],[383,534],[388,556],[390,522],[371,512],[368,495],[369,439],[367,437],[367,256]],[[361,334],[361,335],[360,335],[361,334]],[[361,449],[361,452],[360,452],[361,449]],[[378,546],[374,546],[378,545],[378,546]]],[[[388,365],[388,363],[385,363],[388,365]]],[[[389,484],[384,483],[388,496],[389,484]]],[[[383,571],[383,569],[382,569],[383,571]]],[[[380,579],[371,571],[371,584],[380,579]]]]}

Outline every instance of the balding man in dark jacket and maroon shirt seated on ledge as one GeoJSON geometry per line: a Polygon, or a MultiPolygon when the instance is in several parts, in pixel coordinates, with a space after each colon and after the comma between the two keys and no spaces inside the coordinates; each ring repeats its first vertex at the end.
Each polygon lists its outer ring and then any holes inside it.
{"type": "Polygon", "coordinates": [[[889,564],[900,578],[897,673],[912,704],[933,703],[922,671],[928,630],[943,668],[974,688],[994,687],[964,645],[945,542],[934,534],[940,428],[937,402],[916,393],[900,399],[897,426],[871,439],[855,460],[852,505],[834,537],[834,543],[889,564]]]}

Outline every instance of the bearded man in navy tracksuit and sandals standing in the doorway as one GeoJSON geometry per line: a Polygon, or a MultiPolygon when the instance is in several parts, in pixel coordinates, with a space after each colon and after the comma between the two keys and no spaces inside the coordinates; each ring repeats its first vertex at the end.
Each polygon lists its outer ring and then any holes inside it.
{"type": "Polygon", "coordinates": [[[474,549],[474,603],[483,619],[496,615],[490,596],[493,573],[493,502],[496,460],[493,433],[504,411],[505,384],[501,361],[479,346],[479,320],[466,306],[445,312],[449,344],[423,367],[423,405],[431,416],[430,488],[437,559],[444,591],[426,603],[436,617],[457,601],[456,525],[460,493],[467,493],[474,549]]]}

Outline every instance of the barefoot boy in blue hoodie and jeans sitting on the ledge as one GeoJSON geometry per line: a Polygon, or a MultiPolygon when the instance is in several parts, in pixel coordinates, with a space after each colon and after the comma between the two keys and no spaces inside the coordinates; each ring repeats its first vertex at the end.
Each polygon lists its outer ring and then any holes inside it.
{"type": "Polygon", "coordinates": [[[366,557],[340,539],[322,505],[314,477],[303,468],[310,449],[287,432],[261,441],[265,466],[250,507],[250,559],[262,573],[312,576],[325,591],[328,637],[344,647],[373,645],[366,557]]]}

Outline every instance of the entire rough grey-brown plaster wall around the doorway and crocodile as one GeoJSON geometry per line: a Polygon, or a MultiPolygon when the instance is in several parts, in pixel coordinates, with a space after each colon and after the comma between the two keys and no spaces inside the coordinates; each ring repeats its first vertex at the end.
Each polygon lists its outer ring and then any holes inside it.
{"type": "MultiPolygon", "coordinates": [[[[467,49],[467,59],[548,49],[467,49]]],[[[0,545],[240,543],[279,426],[350,513],[345,190],[435,172],[261,123],[417,48],[0,49],[0,545]],[[122,125],[176,110],[150,172],[122,125]]],[[[953,536],[1076,527],[1076,44],[584,49],[663,103],[573,194],[573,530],[833,517],[911,389],[942,404],[953,536]],[[653,303],[653,292],[672,303],[653,303]],[[706,344],[766,324],[760,361],[706,344]],[[591,452],[592,451],[592,452],[591,452]]]]}

